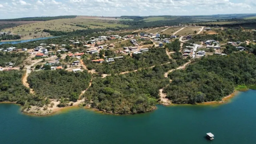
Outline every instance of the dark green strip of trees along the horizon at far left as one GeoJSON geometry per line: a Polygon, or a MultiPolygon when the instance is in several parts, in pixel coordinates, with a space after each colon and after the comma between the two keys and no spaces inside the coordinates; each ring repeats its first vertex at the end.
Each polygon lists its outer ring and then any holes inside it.
{"type": "Polygon", "coordinates": [[[42,16],[42,17],[24,17],[17,19],[0,19],[0,21],[50,21],[54,19],[70,19],[77,16],[42,16]]]}

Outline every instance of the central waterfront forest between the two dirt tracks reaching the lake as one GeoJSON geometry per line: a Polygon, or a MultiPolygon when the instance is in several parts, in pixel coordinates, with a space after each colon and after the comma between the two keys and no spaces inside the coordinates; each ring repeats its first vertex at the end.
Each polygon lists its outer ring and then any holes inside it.
{"type": "Polygon", "coordinates": [[[164,72],[175,67],[177,63],[173,62],[124,75],[95,78],[84,94],[85,104],[92,100],[91,107],[118,114],[151,111],[159,98],[159,89],[169,83],[164,72]]]}

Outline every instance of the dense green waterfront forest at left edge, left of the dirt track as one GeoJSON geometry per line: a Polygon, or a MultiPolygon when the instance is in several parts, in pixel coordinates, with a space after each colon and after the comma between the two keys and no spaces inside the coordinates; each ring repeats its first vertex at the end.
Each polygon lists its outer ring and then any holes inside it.
{"type": "Polygon", "coordinates": [[[23,75],[24,71],[0,71],[0,102],[17,102],[24,105],[26,100],[32,99],[29,89],[21,82],[23,75]]]}

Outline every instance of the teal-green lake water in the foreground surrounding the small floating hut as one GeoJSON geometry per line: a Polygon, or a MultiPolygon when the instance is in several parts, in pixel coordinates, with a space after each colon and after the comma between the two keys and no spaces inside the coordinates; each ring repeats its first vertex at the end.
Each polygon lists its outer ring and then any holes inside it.
{"type": "Polygon", "coordinates": [[[157,105],[154,112],[107,115],[82,108],[48,117],[0,104],[1,144],[255,144],[256,91],[241,92],[232,102],[212,106],[157,105]],[[207,132],[215,135],[210,141],[207,132]]]}

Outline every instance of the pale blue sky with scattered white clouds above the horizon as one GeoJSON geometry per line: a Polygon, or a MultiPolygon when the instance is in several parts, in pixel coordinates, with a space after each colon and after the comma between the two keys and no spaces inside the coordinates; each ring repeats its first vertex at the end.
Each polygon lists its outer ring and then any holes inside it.
{"type": "Polygon", "coordinates": [[[256,0],[0,0],[0,19],[256,13],[256,0]]]}

